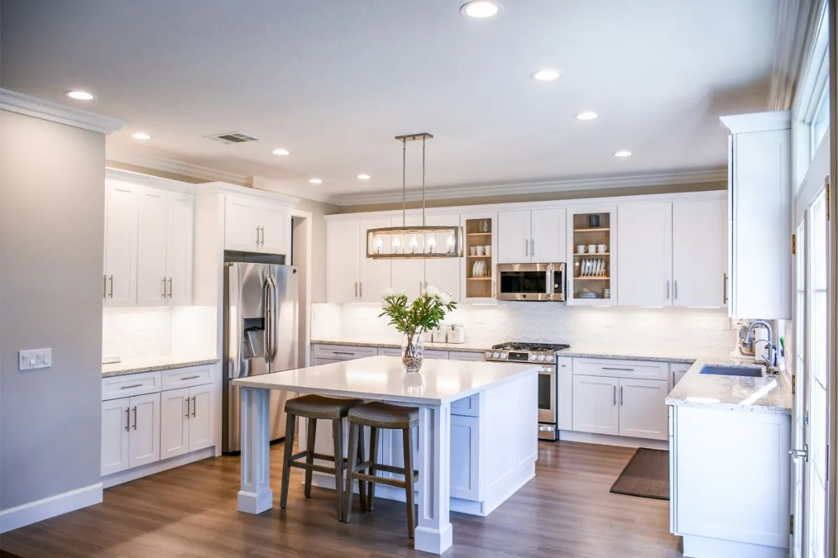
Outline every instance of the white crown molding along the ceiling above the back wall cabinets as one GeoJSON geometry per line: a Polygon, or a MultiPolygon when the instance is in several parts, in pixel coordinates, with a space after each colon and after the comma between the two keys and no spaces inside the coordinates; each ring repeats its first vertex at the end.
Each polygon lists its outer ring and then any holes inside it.
{"type": "MultiPolygon", "coordinates": [[[[569,178],[550,182],[469,184],[458,187],[426,189],[425,199],[468,199],[471,197],[496,197],[520,194],[604,190],[607,188],[669,186],[674,184],[702,184],[706,182],[727,182],[727,169],[711,168],[690,171],[619,175],[611,177],[569,178]]],[[[422,191],[408,190],[407,200],[410,202],[421,201],[422,191]]],[[[334,203],[341,206],[372,205],[376,203],[394,202],[401,202],[401,191],[363,192],[334,196],[334,203]]]]}

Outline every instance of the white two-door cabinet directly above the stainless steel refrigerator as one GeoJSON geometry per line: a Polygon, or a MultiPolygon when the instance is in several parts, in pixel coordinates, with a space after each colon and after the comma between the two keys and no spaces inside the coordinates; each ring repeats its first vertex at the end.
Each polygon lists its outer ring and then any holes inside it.
{"type": "Polygon", "coordinates": [[[262,199],[227,195],[224,248],[290,255],[291,221],[286,207],[262,199]]]}

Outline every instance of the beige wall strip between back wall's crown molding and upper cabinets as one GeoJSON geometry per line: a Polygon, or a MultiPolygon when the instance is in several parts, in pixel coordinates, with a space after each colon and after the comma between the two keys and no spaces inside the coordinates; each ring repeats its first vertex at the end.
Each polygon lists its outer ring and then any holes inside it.
{"type": "MultiPolygon", "coordinates": [[[[705,192],[727,190],[727,182],[706,182],[701,184],[674,184],[671,186],[649,186],[630,188],[608,188],[603,190],[577,190],[574,192],[546,192],[541,194],[511,194],[509,196],[468,197],[450,200],[427,200],[426,207],[455,207],[485,203],[552,202],[557,200],[583,199],[588,197],[644,196],[675,192],[705,192]]],[[[422,202],[407,202],[408,209],[422,207],[422,202]]],[[[401,202],[368,205],[337,206],[338,213],[360,213],[401,209],[401,202]]]]}

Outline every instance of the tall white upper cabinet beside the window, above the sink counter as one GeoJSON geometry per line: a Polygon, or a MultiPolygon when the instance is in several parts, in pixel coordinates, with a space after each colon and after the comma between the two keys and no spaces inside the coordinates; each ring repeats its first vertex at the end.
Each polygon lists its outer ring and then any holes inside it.
{"type": "Polygon", "coordinates": [[[723,116],[728,153],[728,313],[790,320],[791,117],[723,116]]]}

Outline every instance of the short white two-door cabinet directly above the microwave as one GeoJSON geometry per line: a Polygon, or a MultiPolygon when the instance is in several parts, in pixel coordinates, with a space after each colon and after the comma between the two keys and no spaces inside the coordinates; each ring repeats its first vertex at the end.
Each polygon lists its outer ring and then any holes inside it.
{"type": "Polygon", "coordinates": [[[563,208],[498,212],[498,263],[564,262],[565,235],[563,208]]]}

